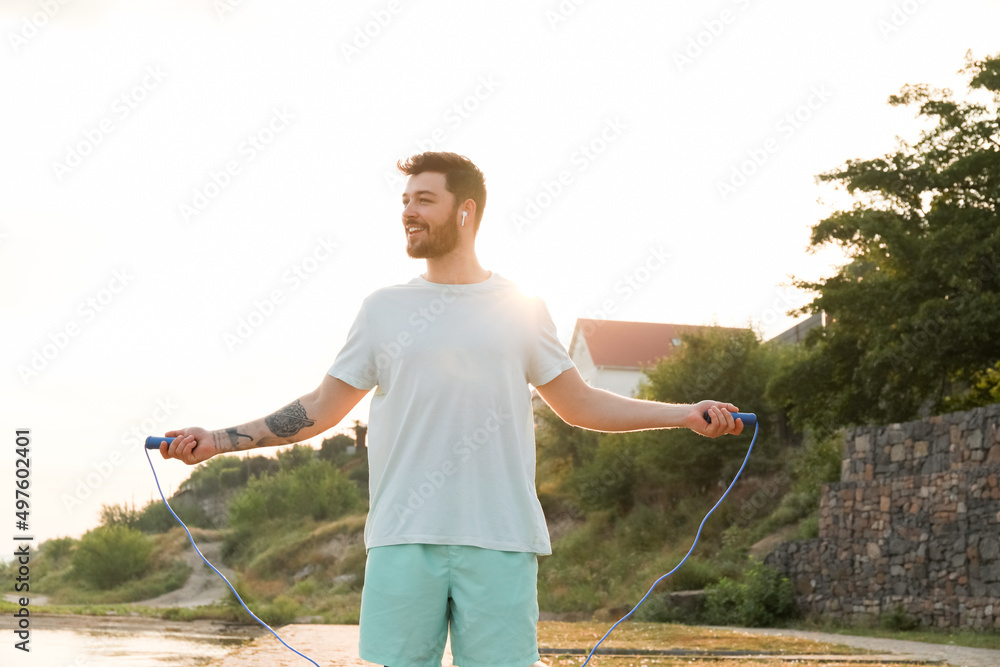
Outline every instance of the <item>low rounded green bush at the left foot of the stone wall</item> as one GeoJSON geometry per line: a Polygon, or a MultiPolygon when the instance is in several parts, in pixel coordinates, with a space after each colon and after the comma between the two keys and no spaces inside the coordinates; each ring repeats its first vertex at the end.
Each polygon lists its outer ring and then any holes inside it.
{"type": "Polygon", "coordinates": [[[766,627],[795,616],[795,595],[787,577],[757,561],[742,582],[723,578],[705,589],[710,623],[766,627]]]}

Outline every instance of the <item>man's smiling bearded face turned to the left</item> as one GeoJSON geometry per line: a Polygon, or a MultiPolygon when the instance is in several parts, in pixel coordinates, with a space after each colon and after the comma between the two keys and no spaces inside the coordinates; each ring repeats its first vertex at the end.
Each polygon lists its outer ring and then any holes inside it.
{"type": "Polygon", "coordinates": [[[461,214],[455,196],[445,187],[444,174],[425,171],[410,176],[403,191],[403,231],[406,254],[436,259],[458,246],[461,214]]]}

